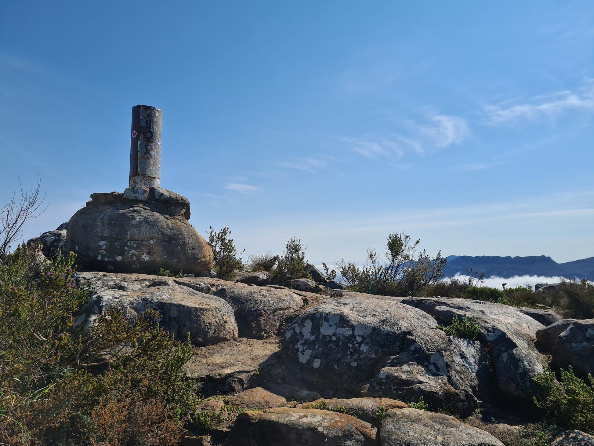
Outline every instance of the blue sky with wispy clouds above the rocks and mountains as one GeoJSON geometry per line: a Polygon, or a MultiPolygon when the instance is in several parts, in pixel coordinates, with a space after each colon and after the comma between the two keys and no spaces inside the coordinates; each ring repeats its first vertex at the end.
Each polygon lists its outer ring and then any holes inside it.
{"type": "Polygon", "coordinates": [[[147,104],[162,187],[248,253],[594,256],[591,1],[0,5],[0,198],[50,203],[25,238],[127,187],[147,104]]]}

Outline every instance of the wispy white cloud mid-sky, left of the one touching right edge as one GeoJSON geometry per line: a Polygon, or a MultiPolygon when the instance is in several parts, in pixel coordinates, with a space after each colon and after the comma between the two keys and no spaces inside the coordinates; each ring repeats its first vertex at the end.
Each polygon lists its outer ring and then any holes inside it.
{"type": "Polygon", "coordinates": [[[433,115],[428,124],[412,124],[409,133],[394,133],[386,137],[340,138],[343,145],[369,159],[386,156],[401,157],[413,152],[421,155],[444,147],[462,143],[470,134],[464,118],[433,115]]]}

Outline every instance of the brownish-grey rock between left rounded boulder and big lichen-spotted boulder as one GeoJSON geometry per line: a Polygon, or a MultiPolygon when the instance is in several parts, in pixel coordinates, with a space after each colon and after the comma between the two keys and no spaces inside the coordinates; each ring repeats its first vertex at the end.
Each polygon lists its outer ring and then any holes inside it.
{"type": "Polygon", "coordinates": [[[214,295],[228,301],[235,311],[239,333],[248,338],[275,335],[280,322],[303,306],[303,299],[290,290],[254,287],[237,282],[226,282],[214,295]]]}

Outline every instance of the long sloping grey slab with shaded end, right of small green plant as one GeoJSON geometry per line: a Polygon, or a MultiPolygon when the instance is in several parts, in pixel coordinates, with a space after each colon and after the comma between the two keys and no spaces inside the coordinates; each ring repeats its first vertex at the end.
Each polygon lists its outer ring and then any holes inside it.
{"type": "Polygon", "coordinates": [[[510,397],[532,399],[532,378],[542,373],[546,364],[532,344],[542,323],[514,307],[470,299],[406,297],[403,304],[434,315],[439,323],[475,316],[481,326],[481,340],[488,344],[498,387],[510,397]]]}

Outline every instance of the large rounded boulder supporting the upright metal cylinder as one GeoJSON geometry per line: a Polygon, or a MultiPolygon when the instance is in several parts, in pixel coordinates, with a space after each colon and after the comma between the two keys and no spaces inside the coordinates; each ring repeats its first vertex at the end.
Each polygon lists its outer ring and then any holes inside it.
{"type": "Polygon", "coordinates": [[[67,251],[94,271],[200,274],[213,265],[206,240],[189,224],[185,197],[151,187],[91,194],[68,222],[67,251]]]}

